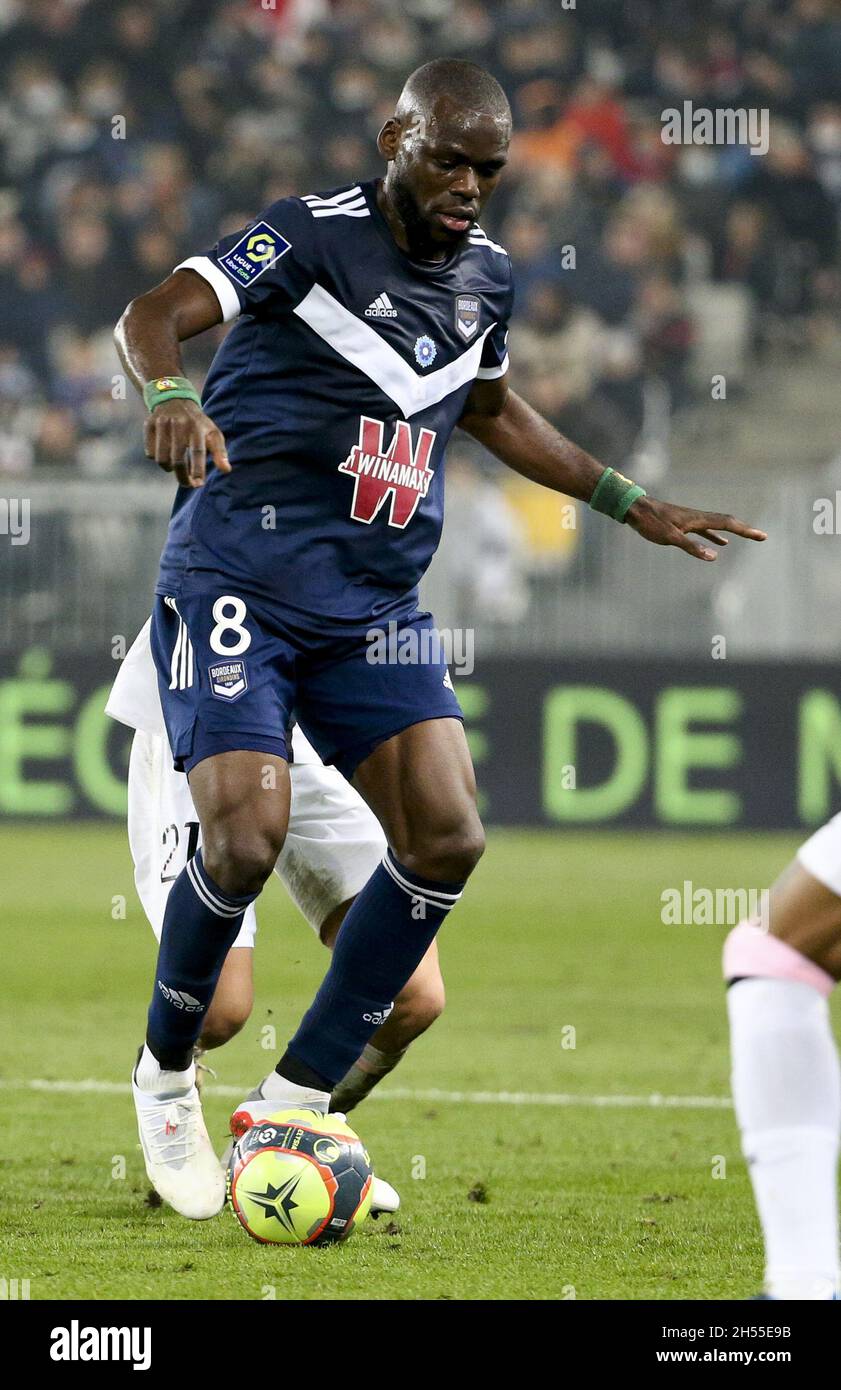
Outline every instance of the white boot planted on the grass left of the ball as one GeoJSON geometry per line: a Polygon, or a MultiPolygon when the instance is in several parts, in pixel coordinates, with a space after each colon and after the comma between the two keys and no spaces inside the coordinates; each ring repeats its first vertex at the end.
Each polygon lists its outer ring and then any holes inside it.
{"type": "Polygon", "coordinates": [[[202,1115],[196,1069],[178,1076],[185,1090],[140,1090],[132,1073],[138,1133],[149,1182],[170,1207],[190,1220],[207,1220],[225,1205],[225,1175],[217,1159],[202,1115]]]}

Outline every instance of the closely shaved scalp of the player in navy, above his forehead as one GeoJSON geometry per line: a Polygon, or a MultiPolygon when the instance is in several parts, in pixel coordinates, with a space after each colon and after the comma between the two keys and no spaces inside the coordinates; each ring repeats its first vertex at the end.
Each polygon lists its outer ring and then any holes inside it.
{"type": "Polygon", "coordinates": [[[503,136],[512,132],[512,108],[496,78],[478,63],[434,58],[406,79],[395,115],[403,129],[428,132],[441,121],[493,121],[503,136]]]}

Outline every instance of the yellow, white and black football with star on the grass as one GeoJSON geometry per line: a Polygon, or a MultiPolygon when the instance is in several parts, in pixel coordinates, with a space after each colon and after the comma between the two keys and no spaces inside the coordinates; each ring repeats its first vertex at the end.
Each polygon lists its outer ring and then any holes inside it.
{"type": "Polygon", "coordinates": [[[371,1161],[338,1115],[278,1109],[234,1144],[228,1201],[254,1240],[331,1245],[371,1208],[371,1161]]]}

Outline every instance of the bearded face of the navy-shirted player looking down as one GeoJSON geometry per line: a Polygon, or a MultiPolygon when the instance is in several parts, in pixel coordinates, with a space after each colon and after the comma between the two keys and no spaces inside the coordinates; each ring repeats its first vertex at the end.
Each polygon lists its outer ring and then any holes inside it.
{"type": "Polygon", "coordinates": [[[442,254],[467,240],[509,140],[507,122],[475,111],[436,111],[403,129],[388,186],[414,250],[442,254]]]}

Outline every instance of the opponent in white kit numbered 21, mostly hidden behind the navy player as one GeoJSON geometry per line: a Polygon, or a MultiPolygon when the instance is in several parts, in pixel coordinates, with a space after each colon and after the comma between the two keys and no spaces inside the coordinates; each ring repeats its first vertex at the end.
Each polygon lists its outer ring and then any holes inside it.
{"type": "MultiPolygon", "coordinates": [[[[172,767],[146,623],[126,653],[106,712],[135,730],[128,773],[128,838],[138,897],[160,941],[167,897],[200,844],[200,826],[183,773],[172,767]]],[[[385,852],[385,835],[364,801],[325,767],[302,731],[292,734],[289,831],[275,874],[320,941],[332,948],[352,899],[385,852]]],[[[247,1022],[253,1005],[253,905],[222,966],[206,1013],[199,1049],[222,1047],[247,1022]]],[[[359,1062],[331,1098],[332,1111],[352,1111],[400,1062],[410,1042],[443,1009],[443,980],[435,942],[395,999],[359,1062]]]]}

